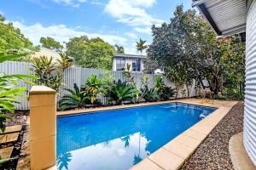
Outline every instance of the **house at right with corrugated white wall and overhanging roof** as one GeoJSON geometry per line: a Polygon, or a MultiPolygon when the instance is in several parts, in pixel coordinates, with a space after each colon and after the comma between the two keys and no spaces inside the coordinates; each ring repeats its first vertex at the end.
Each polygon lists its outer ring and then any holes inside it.
{"type": "Polygon", "coordinates": [[[245,153],[256,166],[256,1],[194,0],[192,6],[201,11],[218,36],[239,34],[241,41],[246,42],[244,147],[241,144],[241,148],[245,148],[245,153]]]}

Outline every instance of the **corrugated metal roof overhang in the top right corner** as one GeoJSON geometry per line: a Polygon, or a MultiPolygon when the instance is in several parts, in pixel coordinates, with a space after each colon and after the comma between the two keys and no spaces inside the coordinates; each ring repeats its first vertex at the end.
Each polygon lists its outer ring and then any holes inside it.
{"type": "Polygon", "coordinates": [[[218,36],[246,31],[246,0],[194,0],[218,36]]]}

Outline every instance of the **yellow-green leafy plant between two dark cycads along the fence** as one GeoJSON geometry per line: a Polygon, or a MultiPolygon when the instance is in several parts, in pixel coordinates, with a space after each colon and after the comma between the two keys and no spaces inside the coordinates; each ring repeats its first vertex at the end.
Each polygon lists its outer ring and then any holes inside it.
{"type": "Polygon", "coordinates": [[[90,103],[94,104],[96,102],[96,96],[101,93],[102,81],[97,78],[95,74],[88,77],[85,85],[82,87],[82,94],[88,96],[90,103]]]}

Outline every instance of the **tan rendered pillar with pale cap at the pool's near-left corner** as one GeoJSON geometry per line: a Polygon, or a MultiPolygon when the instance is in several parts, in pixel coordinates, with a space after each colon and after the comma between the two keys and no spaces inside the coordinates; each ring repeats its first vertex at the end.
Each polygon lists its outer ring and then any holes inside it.
{"type": "Polygon", "coordinates": [[[31,169],[53,167],[56,160],[56,92],[45,86],[33,86],[29,104],[31,169]]]}

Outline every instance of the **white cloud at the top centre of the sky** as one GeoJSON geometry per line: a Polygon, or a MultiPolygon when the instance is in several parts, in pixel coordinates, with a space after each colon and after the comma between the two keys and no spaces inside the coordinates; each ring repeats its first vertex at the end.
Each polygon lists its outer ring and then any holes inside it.
{"type": "Polygon", "coordinates": [[[152,7],[154,3],[156,0],[109,0],[105,12],[129,26],[151,26],[163,22],[145,10],[152,7]]]}

